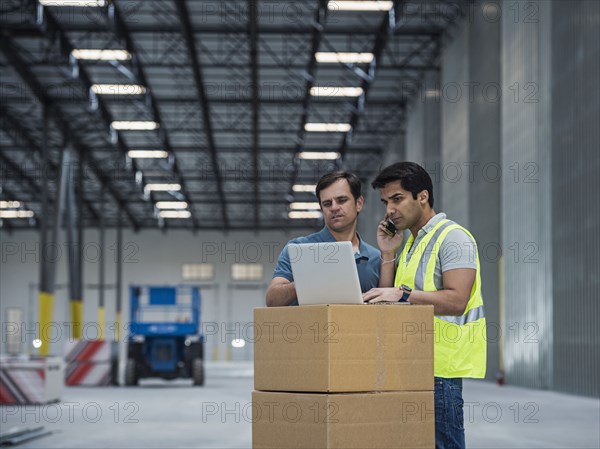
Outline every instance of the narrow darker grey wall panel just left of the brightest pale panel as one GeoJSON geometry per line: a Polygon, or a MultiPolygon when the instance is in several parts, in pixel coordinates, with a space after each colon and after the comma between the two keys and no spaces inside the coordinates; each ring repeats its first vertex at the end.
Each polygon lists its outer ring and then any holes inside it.
{"type": "Polygon", "coordinates": [[[469,230],[477,240],[488,323],[487,379],[499,364],[498,267],[500,240],[500,17],[494,3],[474,4],[469,33],[469,230]]]}

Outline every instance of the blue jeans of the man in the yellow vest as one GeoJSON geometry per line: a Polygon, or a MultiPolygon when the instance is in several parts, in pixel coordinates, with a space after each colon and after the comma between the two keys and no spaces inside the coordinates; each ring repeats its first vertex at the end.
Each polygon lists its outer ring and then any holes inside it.
{"type": "Polygon", "coordinates": [[[435,378],[435,447],[464,449],[462,379],[435,378]]]}

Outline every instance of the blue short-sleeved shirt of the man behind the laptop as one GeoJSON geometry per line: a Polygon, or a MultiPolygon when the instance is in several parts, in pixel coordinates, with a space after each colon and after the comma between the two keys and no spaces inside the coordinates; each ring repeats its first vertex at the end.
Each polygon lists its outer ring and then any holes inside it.
{"type": "MultiPolygon", "coordinates": [[[[381,252],[366,243],[363,239],[358,237],[358,252],[354,254],[354,260],[356,261],[356,268],[358,270],[358,279],[360,281],[360,289],[362,292],[367,292],[372,288],[379,286],[379,271],[381,268],[381,252]]],[[[277,260],[277,266],[273,277],[282,277],[290,282],[294,282],[294,276],[292,275],[292,265],[290,263],[290,255],[288,253],[288,245],[290,243],[323,243],[323,242],[335,242],[335,238],[329,232],[327,227],[324,227],[319,232],[310,234],[304,237],[297,237],[287,242],[285,247],[279,254],[277,260]]],[[[294,300],[290,305],[297,306],[298,300],[294,300]]]]}

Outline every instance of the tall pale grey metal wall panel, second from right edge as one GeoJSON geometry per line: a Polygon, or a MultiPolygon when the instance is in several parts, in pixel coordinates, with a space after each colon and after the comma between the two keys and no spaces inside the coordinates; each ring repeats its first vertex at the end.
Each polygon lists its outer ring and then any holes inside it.
{"type": "Polygon", "coordinates": [[[502,16],[504,361],[507,382],[551,388],[552,2],[515,5],[523,14],[502,16]],[[524,14],[532,4],[534,17],[524,14]]]}

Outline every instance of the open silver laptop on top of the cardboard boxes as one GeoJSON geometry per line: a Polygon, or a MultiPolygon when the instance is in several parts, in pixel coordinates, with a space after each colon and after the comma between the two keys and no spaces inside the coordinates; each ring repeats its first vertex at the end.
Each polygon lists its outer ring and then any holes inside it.
{"type": "Polygon", "coordinates": [[[352,242],[288,245],[298,304],[364,304],[352,242]]]}

